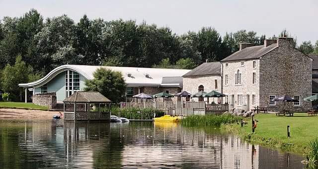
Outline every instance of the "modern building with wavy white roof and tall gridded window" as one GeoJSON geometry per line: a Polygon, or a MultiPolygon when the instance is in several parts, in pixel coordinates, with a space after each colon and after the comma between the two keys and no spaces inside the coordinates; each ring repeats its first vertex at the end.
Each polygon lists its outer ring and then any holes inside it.
{"type": "Polygon", "coordinates": [[[98,68],[106,68],[121,72],[127,84],[126,96],[145,92],[156,94],[159,92],[177,93],[182,89],[182,75],[190,70],[157,69],[157,68],[133,68],[133,67],[106,67],[87,65],[63,65],[55,68],[44,78],[19,84],[27,88],[33,88],[33,95],[37,93],[56,92],[57,102],[63,101],[75,91],[85,88],[85,81],[93,79],[93,73],[98,68]]]}

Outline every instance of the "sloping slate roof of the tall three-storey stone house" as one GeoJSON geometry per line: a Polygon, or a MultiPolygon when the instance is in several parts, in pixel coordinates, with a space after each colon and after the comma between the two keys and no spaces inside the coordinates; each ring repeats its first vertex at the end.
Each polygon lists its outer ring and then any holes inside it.
{"type": "Polygon", "coordinates": [[[277,47],[277,43],[273,43],[267,47],[264,45],[247,47],[224,58],[221,62],[259,58],[277,47]]]}

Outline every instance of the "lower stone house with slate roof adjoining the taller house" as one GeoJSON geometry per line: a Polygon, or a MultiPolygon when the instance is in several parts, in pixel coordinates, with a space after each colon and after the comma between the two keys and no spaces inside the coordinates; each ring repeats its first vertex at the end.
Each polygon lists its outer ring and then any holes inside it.
{"type": "MultiPolygon", "coordinates": [[[[221,63],[207,62],[199,65],[183,77],[183,91],[195,94],[198,91],[221,91],[221,63]]],[[[218,102],[217,98],[193,98],[194,101],[218,102]]]]}

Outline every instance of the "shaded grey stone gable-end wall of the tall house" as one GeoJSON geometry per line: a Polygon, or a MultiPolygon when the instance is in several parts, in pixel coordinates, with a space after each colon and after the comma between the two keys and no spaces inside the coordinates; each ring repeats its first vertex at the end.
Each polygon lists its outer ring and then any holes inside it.
{"type": "Polygon", "coordinates": [[[260,59],[260,106],[270,111],[283,109],[284,103],[269,105],[269,95],[300,95],[301,105],[286,103],[286,109],[306,111],[312,94],[312,59],[293,47],[292,38],[279,38],[278,48],[260,59]]]}

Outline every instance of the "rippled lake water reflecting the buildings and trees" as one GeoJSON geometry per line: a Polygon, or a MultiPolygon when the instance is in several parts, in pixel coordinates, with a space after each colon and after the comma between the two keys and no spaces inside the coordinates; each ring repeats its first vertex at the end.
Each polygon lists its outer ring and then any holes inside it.
{"type": "Polygon", "coordinates": [[[0,169],[303,169],[302,160],[214,128],[0,120],[0,169]]]}

